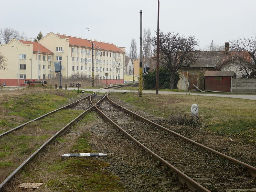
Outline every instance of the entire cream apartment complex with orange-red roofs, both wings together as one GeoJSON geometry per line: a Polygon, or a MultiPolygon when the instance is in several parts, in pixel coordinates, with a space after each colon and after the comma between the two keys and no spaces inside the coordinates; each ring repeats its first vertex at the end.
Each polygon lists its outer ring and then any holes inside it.
{"type": "MultiPolygon", "coordinates": [[[[19,74],[26,73],[26,76],[19,76],[19,79],[22,79],[23,83],[24,79],[37,79],[38,68],[40,80],[59,76],[54,70],[54,62],[59,61],[61,61],[61,74],[63,77],[69,77],[75,74],[92,77],[92,59],[94,59],[94,79],[98,80],[99,78],[100,81],[107,84],[113,84],[115,82],[123,83],[125,48],[117,47],[109,42],[101,42],[96,39],[88,40],[83,39],[82,37],[72,37],[71,35],[60,35],[59,33],[55,34],[51,32],[40,39],[39,42],[13,39],[8,44],[2,44],[0,52],[1,54],[4,54],[8,60],[8,69],[0,71],[1,82],[5,82],[6,85],[17,86],[17,72],[14,72],[15,68],[17,71],[17,63],[26,64],[26,69],[20,69],[21,71],[19,71],[19,74]],[[38,43],[39,65],[37,56],[38,43]],[[18,48],[19,55],[26,55],[25,60],[23,58],[19,61],[16,60],[15,62],[14,56],[15,51],[17,54],[17,49],[15,50],[15,48],[12,47],[13,45],[18,48]],[[94,48],[94,58],[92,58],[92,45],[94,48]],[[30,69],[28,69],[28,62],[30,62],[30,69]],[[2,79],[3,74],[6,74],[4,79],[2,79]],[[12,79],[9,79],[8,77],[11,77],[12,79]]],[[[24,86],[24,83],[19,83],[19,86],[24,86]]]]}

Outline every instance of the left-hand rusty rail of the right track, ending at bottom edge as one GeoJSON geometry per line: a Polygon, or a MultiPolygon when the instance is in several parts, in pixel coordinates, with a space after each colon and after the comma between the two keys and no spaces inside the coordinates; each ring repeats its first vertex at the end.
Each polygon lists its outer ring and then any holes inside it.
{"type": "MultiPolygon", "coordinates": [[[[113,89],[112,89],[113,90],[113,89]]],[[[111,90],[111,91],[112,91],[111,90]]],[[[108,93],[110,93],[109,91],[108,93]]],[[[108,97],[108,93],[106,96],[108,97]]],[[[150,153],[153,157],[159,159],[164,165],[168,166],[170,169],[172,169],[177,175],[179,182],[184,185],[184,187],[188,187],[191,191],[197,191],[197,192],[210,192],[207,188],[203,187],[199,183],[197,183],[195,180],[191,179],[189,176],[187,176],[185,173],[174,167],[172,164],[168,163],[165,159],[151,151],[149,148],[147,148],[145,145],[143,145],[141,142],[136,140],[133,136],[131,136],[128,132],[126,132],[122,127],[120,127],[118,124],[116,124],[114,121],[112,121],[105,113],[103,113],[96,105],[94,105],[96,110],[105,118],[107,119],[113,126],[117,127],[121,132],[123,132],[124,135],[129,137],[132,141],[140,145],[145,151],[150,153]]]]}

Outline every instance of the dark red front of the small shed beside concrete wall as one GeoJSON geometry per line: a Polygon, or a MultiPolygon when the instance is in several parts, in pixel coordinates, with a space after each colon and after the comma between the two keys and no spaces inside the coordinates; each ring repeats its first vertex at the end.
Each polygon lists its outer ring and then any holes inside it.
{"type": "Polygon", "coordinates": [[[231,78],[229,76],[206,76],[205,90],[230,92],[230,80],[231,78]]]}

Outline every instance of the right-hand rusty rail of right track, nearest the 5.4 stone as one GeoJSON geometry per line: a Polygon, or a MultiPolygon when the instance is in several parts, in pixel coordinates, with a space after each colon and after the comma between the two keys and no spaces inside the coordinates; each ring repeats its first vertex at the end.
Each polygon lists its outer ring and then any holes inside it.
{"type": "Polygon", "coordinates": [[[183,136],[183,135],[180,135],[180,134],[178,134],[178,133],[176,133],[176,132],[174,132],[174,131],[172,131],[172,130],[167,129],[166,127],[164,127],[164,126],[162,126],[162,125],[159,125],[159,124],[157,124],[157,123],[155,123],[155,122],[153,122],[153,121],[150,121],[150,120],[144,118],[143,116],[138,115],[138,114],[134,113],[133,111],[130,111],[129,109],[124,108],[123,106],[121,106],[121,105],[115,103],[114,101],[112,101],[112,100],[109,98],[109,96],[108,96],[109,93],[110,93],[110,92],[108,92],[108,93],[106,94],[107,99],[108,99],[111,103],[113,103],[114,105],[116,105],[117,107],[122,108],[123,110],[129,112],[130,114],[132,114],[132,115],[134,115],[134,116],[140,118],[141,120],[144,120],[144,121],[146,121],[146,122],[148,122],[148,123],[151,123],[151,124],[156,125],[157,127],[159,127],[160,129],[162,129],[162,130],[164,130],[164,131],[167,131],[167,132],[169,132],[169,133],[172,133],[172,134],[174,134],[174,135],[176,135],[176,136],[178,136],[178,137],[180,137],[180,138],[182,138],[182,139],[184,139],[184,140],[186,140],[186,141],[188,141],[188,142],[190,142],[190,143],[193,143],[193,144],[196,145],[196,146],[199,146],[199,147],[201,147],[201,148],[204,148],[204,149],[206,149],[206,150],[209,150],[209,151],[215,153],[216,155],[219,155],[219,156],[221,156],[221,157],[224,157],[224,158],[228,159],[229,161],[232,161],[232,162],[235,163],[235,164],[243,165],[244,167],[246,167],[246,168],[249,170],[249,172],[251,173],[252,176],[256,177],[256,167],[253,167],[253,166],[251,166],[251,165],[248,165],[247,163],[244,163],[244,162],[239,161],[239,160],[237,160],[237,159],[235,159],[235,158],[233,158],[233,157],[230,157],[230,156],[225,155],[225,154],[223,154],[223,153],[220,153],[220,152],[218,152],[218,151],[216,151],[216,150],[214,150],[214,149],[212,149],[212,148],[209,148],[209,147],[207,147],[207,146],[205,146],[205,145],[202,145],[202,144],[200,144],[200,143],[198,143],[198,142],[196,142],[196,141],[194,141],[194,140],[191,140],[191,139],[189,139],[189,138],[187,138],[187,137],[185,137],[185,136],[183,136]]]}

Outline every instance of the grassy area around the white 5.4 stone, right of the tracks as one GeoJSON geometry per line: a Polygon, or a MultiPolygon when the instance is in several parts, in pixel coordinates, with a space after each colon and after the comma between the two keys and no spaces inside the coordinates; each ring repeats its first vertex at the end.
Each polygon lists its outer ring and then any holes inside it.
{"type": "MultiPolygon", "coordinates": [[[[224,97],[175,94],[147,94],[141,98],[138,93],[111,93],[110,97],[122,99],[154,115],[168,118],[169,114],[190,114],[192,104],[199,105],[199,115],[206,123],[206,129],[236,137],[240,133],[245,137],[241,141],[255,145],[256,101],[224,97]],[[254,130],[254,131],[252,131],[254,130]],[[248,134],[245,134],[248,133],[248,134]]],[[[240,138],[240,137],[239,137],[240,138]]]]}

